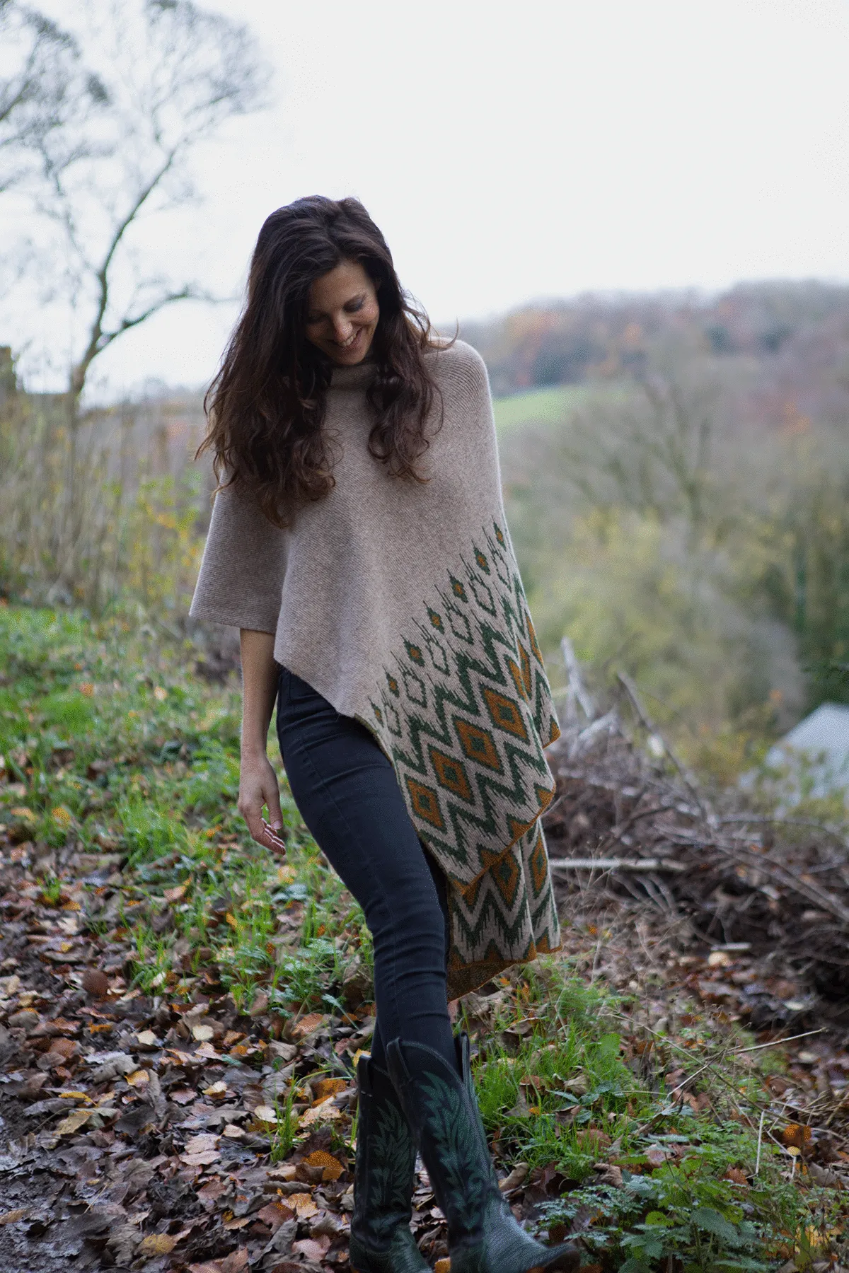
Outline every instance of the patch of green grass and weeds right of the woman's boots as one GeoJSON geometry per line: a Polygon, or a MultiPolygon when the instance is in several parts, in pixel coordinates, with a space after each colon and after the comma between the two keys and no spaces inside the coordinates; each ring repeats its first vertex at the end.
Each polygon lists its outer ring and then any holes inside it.
{"type": "Polygon", "coordinates": [[[743,1032],[705,1022],[647,1035],[560,960],[503,980],[477,1030],[481,1114],[508,1162],[563,1178],[540,1208],[555,1236],[583,1222],[593,1260],[626,1273],[807,1269],[834,1249],[844,1195],[802,1183],[775,1136],[775,1053],[751,1062],[743,1032]],[[598,1183],[611,1166],[616,1184],[598,1183]]]}

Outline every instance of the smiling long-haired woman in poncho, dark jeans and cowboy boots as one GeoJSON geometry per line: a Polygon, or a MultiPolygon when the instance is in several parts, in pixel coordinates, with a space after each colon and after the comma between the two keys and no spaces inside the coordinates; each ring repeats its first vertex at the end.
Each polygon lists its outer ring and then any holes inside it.
{"type": "Polygon", "coordinates": [[[560,941],[538,822],[559,731],[484,364],[432,336],[361,204],[302,199],[260,232],[207,405],[220,486],[192,615],[241,629],[239,810],[284,852],[276,700],[294,799],[374,942],[351,1265],[426,1268],[417,1148],[452,1273],[572,1267],[499,1192],[447,1006],[560,941]]]}

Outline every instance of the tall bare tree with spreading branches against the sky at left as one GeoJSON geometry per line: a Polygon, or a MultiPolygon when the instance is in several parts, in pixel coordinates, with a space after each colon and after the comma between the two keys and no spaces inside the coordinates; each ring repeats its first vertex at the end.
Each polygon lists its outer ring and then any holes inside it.
{"type": "Polygon", "coordinates": [[[69,19],[70,34],[17,0],[0,5],[4,18],[14,8],[18,29],[31,38],[31,55],[20,60],[23,87],[0,85],[10,103],[9,137],[17,129],[10,151],[31,160],[4,196],[19,222],[20,209],[28,210],[29,243],[18,272],[31,298],[60,308],[66,322],[52,330],[71,334],[64,428],[51,443],[65,475],[50,510],[47,558],[57,594],[75,594],[87,569],[89,468],[101,444],[80,409],[92,365],[164,307],[218,299],[191,265],[169,265],[162,250],[151,250],[148,227],[200,202],[197,150],[228,120],[263,104],[267,71],[243,25],[192,0],[87,0],[69,19]],[[55,90],[43,89],[42,116],[28,87],[38,67],[48,73],[47,87],[55,79],[55,90]]]}

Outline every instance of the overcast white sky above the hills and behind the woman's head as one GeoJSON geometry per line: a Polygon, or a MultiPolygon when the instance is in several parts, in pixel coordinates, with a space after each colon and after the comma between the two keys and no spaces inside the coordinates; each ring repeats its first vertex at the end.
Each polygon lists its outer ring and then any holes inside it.
{"type": "MultiPolygon", "coordinates": [[[[274,107],[205,155],[196,234],[149,228],[165,255],[201,243],[213,289],[314,192],[364,201],[440,325],[586,289],[849,279],[846,0],[205,3],[276,71],[274,107]]],[[[205,381],[234,316],[155,318],[102,388],[205,381]]]]}

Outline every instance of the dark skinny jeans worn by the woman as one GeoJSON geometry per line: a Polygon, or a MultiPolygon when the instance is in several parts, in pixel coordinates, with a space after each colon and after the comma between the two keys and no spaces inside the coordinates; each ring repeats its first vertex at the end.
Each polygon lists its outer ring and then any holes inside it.
{"type": "Polygon", "coordinates": [[[456,1066],[446,880],[421,847],[389,760],[364,726],[286,668],[277,738],[295,805],[372,933],[373,1060],[386,1067],[384,1045],[401,1037],[428,1044],[456,1066]]]}

